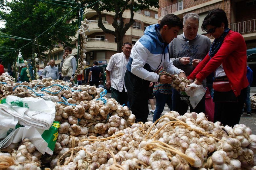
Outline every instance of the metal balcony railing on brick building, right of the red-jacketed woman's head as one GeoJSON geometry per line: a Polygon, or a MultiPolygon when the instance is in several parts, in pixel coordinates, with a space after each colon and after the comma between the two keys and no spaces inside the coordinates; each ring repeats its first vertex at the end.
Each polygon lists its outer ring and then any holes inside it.
{"type": "Polygon", "coordinates": [[[231,24],[232,31],[248,33],[256,31],[256,19],[231,24]]]}

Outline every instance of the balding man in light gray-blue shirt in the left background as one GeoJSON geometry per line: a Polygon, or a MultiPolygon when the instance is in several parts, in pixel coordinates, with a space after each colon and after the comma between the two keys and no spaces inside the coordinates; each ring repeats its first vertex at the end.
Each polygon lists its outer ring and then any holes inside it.
{"type": "Polygon", "coordinates": [[[53,80],[59,79],[59,71],[58,68],[54,66],[55,61],[52,59],[50,61],[50,65],[44,67],[44,71],[41,74],[42,78],[49,78],[51,77],[53,80]]]}

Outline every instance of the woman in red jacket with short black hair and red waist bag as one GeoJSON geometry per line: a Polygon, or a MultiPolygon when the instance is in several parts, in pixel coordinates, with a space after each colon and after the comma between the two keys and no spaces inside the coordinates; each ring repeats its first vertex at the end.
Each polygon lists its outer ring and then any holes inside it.
{"type": "Polygon", "coordinates": [[[187,78],[195,79],[194,83],[200,85],[215,71],[214,122],[234,126],[239,123],[249,84],[246,78],[246,44],[241,34],[228,28],[228,19],[222,9],[209,11],[202,30],[215,40],[207,56],[187,78]]]}

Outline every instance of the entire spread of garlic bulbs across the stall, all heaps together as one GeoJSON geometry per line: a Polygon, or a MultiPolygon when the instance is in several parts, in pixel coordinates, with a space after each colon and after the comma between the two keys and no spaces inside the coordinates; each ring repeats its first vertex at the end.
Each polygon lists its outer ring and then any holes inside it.
{"type": "Polygon", "coordinates": [[[1,86],[5,92],[16,87],[12,95],[55,95],[63,103],[56,103],[55,120],[61,125],[53,155],[42,155],[24,139],[1,150],[0,169],[256,169],[256,135],[243,124],[224,127],[204,113],[174,111],[155,123],[133,123],[128,108],[100,97],[103,90],[93,86],[51,79],[1,86]]]}

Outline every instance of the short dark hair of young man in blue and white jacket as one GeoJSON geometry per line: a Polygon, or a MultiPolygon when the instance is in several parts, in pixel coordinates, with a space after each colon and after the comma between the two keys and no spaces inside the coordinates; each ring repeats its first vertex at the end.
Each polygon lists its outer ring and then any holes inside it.
{"type": "Polygon", "coordinates": [[[174,14],[167,14],[166,16],[164,16],[164,18],[160,22],[160,29],[162,29],[164,25],[167,25],[168,28],[178,26],[179,29],[182,29],[183,27],[179,17],[174,14]]]}

